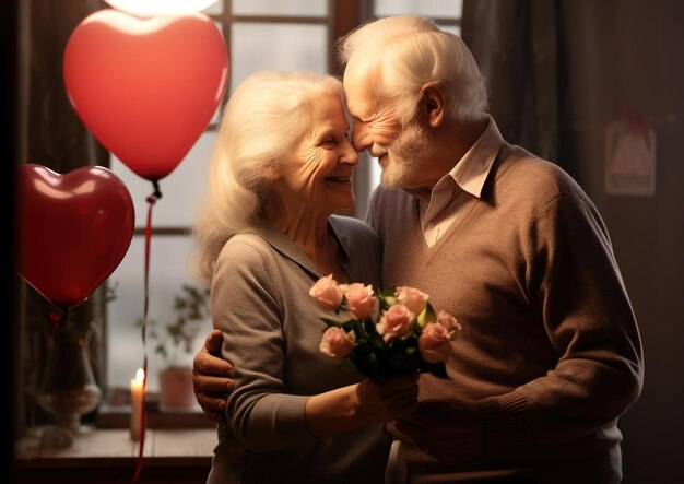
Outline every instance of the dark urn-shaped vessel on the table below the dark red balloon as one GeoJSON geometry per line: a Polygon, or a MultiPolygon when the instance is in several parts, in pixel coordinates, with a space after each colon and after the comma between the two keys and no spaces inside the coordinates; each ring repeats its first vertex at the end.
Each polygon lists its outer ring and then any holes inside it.
{"type": "Polygon", "coordinates": [[[40,437],[44,448],[70,447],[73,437],[87,432],[81,415],[95,410],[102,391],[95,381],[89,349],[94,329],[67,324],[48,337],[48,357],[38,404],[55,415],[55,425],[40,437]]]}

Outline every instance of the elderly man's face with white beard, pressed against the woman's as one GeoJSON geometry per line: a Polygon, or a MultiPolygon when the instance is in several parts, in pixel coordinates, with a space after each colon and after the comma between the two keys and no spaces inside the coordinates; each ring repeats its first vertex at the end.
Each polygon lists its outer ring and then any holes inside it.
{"type": "Polygon", "coordinates": [[[378,158],[384,187],[417,188],[418,172],[431,152],[429,134],[415,119],[402,125],[394,106],[381,103],[373,91],[377,81],[363,71],[362,66],[350,61],[344,72],[346,106],[354,121],[354,149],[367,149],[378,158]]]}

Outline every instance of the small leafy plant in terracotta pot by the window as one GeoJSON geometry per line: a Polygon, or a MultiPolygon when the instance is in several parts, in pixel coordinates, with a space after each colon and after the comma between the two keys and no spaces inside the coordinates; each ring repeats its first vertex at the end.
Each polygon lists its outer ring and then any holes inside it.
{"type": "MultiPolygon", "coordinates": [[[[192,368],[178,358],[194,353],[192,343],[205,329],[201,323],[210,315],[209,288],[184,284],[174,297],[174,312],[166,323],[148,319],[146,334],[156,341],[154,352],[165,362],[158,371],[161,408],[188,409],[194,403],[192,368]]],[[[140,328],[142,322],[139,318],[135,324],[140,328]]]]}

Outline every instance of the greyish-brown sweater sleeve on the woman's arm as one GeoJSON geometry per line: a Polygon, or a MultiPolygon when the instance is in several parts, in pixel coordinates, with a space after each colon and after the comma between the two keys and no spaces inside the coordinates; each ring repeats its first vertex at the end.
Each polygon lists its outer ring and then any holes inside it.
{"type": "Polygon", "coordinates": [[[232,239],[212,284],[212,318],[223,331],[222,355],[235,366],[227,417],[235,437],[257,451],[291,447],[315,437],[304,406],[308,397],[283,393],[284,339],[273,268],[262,250],[232,239]]]}

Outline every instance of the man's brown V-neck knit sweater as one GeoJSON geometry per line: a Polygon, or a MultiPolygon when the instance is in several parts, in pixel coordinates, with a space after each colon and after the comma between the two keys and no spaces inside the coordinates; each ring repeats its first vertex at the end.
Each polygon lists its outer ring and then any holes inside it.
{"type": "MultiPolygon", "coordinates": [[[[503,144],[482,198],[433,247],[417,199],[378,189],[368,222],[384,286],[412,285],[463,327],[450,380],[421,399],[477,402],[484,456],[449,468],[409,446],[414,482],[516,469],[524,482],[618,482],[617,417],[638,397],[641,343],[606,228],[561,168],[503,144]]],[[[432,481],[431,481],[432,480],[432,481]]]]}

